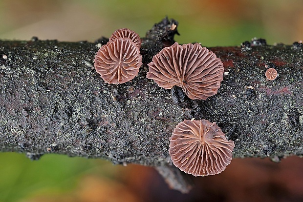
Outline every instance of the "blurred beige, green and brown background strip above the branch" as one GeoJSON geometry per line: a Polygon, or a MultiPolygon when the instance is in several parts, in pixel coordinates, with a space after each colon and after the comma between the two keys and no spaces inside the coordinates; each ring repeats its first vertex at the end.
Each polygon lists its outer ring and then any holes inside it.
{"type": "Polygon", "coordinates": [[[145,36],[165,16],[179,22],[179,43],[234,46],[254,37],[302,40],[301,0],[0,0],[0,39],[89,40],[127,27],[145,36]]]}

